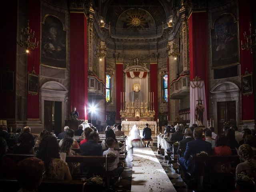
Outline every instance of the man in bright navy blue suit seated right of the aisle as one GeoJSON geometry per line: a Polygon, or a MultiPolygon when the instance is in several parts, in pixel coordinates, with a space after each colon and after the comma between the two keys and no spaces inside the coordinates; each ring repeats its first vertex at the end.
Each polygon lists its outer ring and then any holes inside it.
{"type": "Polygon", "coordinates": [[[195,174],[195,171],[197,170],[191,155],[196,156],[196,154],[201,151],[207,152],[208,155],[212,154],[212,145],[209,142],[202,140],[202,133],[203,130],[201,128],[194,129],[193,135],[195,140],[187,143],[184,157],[179,159],[180,168],[184,173],[188,171],[190,174],[195,174]]]}

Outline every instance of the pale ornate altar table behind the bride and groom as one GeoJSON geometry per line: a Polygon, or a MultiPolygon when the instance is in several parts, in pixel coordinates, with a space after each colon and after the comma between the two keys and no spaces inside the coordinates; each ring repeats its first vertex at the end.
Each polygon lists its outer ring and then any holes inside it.
{"type": "Polygon", "coordinates": [[[152,130],[152,134],[156,134],[157,125],[155,121],[122,121],[122,131],[125,132],[126,135],[129,134],[132,126],[137,125],[140,132],[146,127],[145,124],[148,123],[148,127],[152,130]]]}

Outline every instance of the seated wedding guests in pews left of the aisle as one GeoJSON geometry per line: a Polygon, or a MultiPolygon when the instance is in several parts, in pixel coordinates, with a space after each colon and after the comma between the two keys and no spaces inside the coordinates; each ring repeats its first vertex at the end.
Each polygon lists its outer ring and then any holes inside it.
{"type": "Polygon", "coordinates": [[[60,139],[46,130],[36,138],[26,126],[16,138],[0,137],[0,183],[9,191],[112,190],[124,170],[114,131],[108,128],[103,140],[91,127],[74,134],[65,126],[60,139]]]}

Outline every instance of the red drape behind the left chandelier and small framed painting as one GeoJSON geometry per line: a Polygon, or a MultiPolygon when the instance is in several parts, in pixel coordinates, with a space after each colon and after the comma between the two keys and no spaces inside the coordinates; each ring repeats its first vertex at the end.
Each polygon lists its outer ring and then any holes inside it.
{"type": "MultiPolygon", "coordinates": [[[[29,49],[27,70],[32,72],[33,67],[36,74],[40,74],[40,13],[41,1],[29,0],[28,1],[28,20],[29,27],[35,32],[34,38],[38,40],[38,48],[29,49]]],[[[34,39],[33,39],[34,40],[34,39]]],[[[39,86],[39,85],[38,85],[39,86]]],[[[40,100],[39,90],[37,95],[27,94],[27,118],[39,119],[40,118],[40,100]]]]}

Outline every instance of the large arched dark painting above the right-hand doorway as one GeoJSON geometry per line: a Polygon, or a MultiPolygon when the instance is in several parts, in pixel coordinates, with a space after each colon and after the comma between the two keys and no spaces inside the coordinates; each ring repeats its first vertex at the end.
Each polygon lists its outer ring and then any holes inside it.
{"type": "Polygon", "coordinates": [[[238,21],[231,13],[218,16],[210,29],[210,62],[212,69],[239,64],[238,21]]]}

